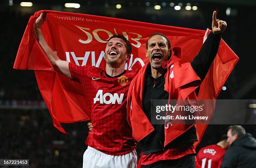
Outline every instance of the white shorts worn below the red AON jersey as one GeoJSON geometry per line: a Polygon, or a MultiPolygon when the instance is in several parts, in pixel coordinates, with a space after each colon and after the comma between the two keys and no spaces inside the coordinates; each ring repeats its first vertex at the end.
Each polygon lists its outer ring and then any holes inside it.
{"type": "Polygon", "coordinates": [[[83,168],[136,168],[137,153],[113,156],[88,146],[83,156],[83,168]]]}

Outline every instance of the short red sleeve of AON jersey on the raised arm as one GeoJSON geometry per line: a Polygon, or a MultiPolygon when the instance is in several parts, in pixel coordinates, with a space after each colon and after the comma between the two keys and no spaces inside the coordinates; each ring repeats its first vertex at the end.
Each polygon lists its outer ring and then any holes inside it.
{"type": "Polygon", "coordinates": [[[88,77],[91,72],[92,66],[79,66],[69,62],[69,72],[71,74],[71,80],[84,84],[85,78],[88,77]]]}

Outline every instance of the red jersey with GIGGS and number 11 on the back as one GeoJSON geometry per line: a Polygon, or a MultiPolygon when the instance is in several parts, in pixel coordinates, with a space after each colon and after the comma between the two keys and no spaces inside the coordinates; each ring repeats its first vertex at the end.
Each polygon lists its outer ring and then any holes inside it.
{"type": "Polygon", "coordinates": [[[197,153],[197,161],[202,168],[220,168],[225,152],[218,145],[206,146],[197,153]]]}

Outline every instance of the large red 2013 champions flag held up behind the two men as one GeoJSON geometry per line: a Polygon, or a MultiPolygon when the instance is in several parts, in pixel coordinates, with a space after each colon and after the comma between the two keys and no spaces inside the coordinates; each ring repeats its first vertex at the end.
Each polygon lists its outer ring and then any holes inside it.
{"type": "MultiPolygon", "coordinates": [[[[205,34],[205,30],[110,17],[50,10],[36,12],[28,21],[13,68],[35,70],[38,87],[54,126],[63,133],[66,131],[60,123],[89,120],[91,111],[88,111],[82,85],[56,73],[36,41],[33,24],[41,12],[47,13],[47,20],[42,26],[46,42],[60,59],[77,65],[105,68],[104,50],[107,40],[112,35],[121,34],[131,42],[133,50],[125,68],[141,68],[148,62],[145,57],[146,40],[156,32],[166,35],[172,46],[181,47],[182,62],[190,62],[202,47],[205,34]]],[[[201,84],[198,98],[216,99],[237,61],[236,54],[221,40],[219,52],[201,84]]],[[[205,129],[205,125],[198,126],[199,135],[205,129]]]]}

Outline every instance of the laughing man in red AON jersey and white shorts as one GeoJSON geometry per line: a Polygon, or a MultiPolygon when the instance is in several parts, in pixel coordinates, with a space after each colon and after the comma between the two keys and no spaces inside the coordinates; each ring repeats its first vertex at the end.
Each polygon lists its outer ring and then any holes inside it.
{"type": "Polygon", "coordinates": [[[81,83],[87,94],[93,129],[87,137],[83,168],[136,168],[137,154],[131,128],[126,119],[128,88],[137,70],[125,70],[131,56],[131,44],[122,35],[110,37],[105,48],[105,70],[77,66],[59,59],[44,39],[42,13],[34,24],[36,39],[54,69],[81,83]]]}

